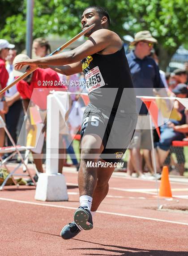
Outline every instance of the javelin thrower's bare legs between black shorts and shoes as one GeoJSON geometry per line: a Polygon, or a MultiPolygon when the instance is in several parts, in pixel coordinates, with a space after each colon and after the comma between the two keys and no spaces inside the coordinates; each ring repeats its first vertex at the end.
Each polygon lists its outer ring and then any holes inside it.
{"type": "Polygon", "coordinates": [[[108,181],[114,167],[87,167],[87,162],[106,162],[99,158],[103,151],[102,140],[98,135],[85,135],[81,141],[81,165],[78,172],[80,196],[88,195],[93,198],[91,211],[96,211],[108,193],[108,181]],[[90,155],[91,154],[91,155],[90,155]],[[96,158],[92,158],[95,154],[96,158]]]}

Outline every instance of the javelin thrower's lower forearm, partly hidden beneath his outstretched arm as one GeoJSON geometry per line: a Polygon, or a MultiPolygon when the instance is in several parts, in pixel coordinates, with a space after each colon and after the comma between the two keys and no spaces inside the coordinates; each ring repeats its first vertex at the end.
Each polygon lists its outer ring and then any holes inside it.
{"type": "Polygon", "coordinates": [[[81,61],[79,61],[77,63],[65,65],[65,66],[51,66],[50,65],[48,67],[50,67],[54,71],[56,71],[60,74],[63,74],[65,76],[70,76],[70,75],[82,72],[81,61]]]}

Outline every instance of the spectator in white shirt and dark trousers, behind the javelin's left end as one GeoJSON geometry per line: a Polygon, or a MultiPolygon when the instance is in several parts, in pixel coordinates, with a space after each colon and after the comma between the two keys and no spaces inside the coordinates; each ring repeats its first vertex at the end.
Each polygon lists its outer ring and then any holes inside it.
{"type": "MultiPolygon", "coordinates": [[[[7,85],[14,81],[13,76],[13,60],[16,57],[17,51],[14,49],[9,50],[9,55],[7,57],[8,64],[6,66],[9,72],[9,80],[7,85]]],[[[9,90],[5,92],[5,99],[9,107],[8,113],[5,115],[7,129],[13,137],[15,143],[17,142],[17,124],[22,110],[22,103],[20,98],[20,93],[17,91],[16,85],[13,85],[9,90]]],[[[10,139],[8,138],[8,146],[12,145],[10,139]]]]}

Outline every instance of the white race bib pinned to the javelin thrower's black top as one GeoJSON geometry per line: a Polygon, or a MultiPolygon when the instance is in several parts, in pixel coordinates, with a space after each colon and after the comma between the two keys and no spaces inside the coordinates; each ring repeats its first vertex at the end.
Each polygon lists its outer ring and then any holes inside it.
{"type": "Polygon", "coordinates": [[[98,66],[92,68],[85,74],[85,86],[88,93],[104,85],[105,82],[98,66]]]}

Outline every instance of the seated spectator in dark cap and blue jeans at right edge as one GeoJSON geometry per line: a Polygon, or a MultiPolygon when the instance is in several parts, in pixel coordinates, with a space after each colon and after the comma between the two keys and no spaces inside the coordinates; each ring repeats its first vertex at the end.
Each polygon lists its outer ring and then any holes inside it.
{"type": "MultiPolygon", "coordinates": [[[[187,85],[179,84],[175,87],[172,92],[179,98],[187,98],[188,97],[188,89],[187,85]]],[[[187,129],[187,118],[185,115],[185,107],[179,103],[179,112],[182,114],[182,118],[180,121],[176,121],[174,119],[170,119],[167,124],[161,126],[161,138],[158,142],[158,165],[162,166],[166,157],[168,156],[169,149],[173,140],[182,140],[185,138],[185,132],[187,129]]],[[[181,152],[183,155],[183,151],[181,152]]],[[[184,170],[184,161],[179,162],[180,166],[180,174],[183,175],[184,170]]]]}

